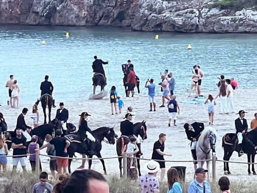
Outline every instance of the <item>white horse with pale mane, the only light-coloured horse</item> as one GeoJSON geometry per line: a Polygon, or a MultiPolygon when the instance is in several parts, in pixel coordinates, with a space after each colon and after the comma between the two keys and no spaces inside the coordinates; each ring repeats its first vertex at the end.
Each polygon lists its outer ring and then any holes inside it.
{"type": "MultiPolygon", "coordinates": [[[[215,152],[216,138],[218,138],[218,133],[213,127],[209,126],[204,129],[196,144],[197,160],[212,159],[212,152],[215,152]]],[[[203,167],[204,162],[201,161],[199,167],[203,167]]],[[[206,161],[206,164],[208,171],[210,171],[210,161],[206,161]]],[[[207,175],[209,180],[209,172],[207,175]]]]}

